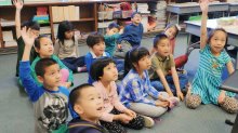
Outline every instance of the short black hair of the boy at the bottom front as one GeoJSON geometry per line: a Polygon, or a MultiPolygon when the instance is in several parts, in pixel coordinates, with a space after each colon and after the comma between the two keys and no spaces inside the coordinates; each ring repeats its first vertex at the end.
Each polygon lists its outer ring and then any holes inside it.
{"type": "Polygon", "coordinates": [[[71,90],[70,94],[69,94],[69,104],[71,105],[71,107],[74,108],[75,104],[77,103],[77,101],[80,98],[80,92],[83,89],[87,88],[91,88],[93,85],[89,84],[89,83],[83,83],[81,85],[76,87],[75,89],[71,90]]]}

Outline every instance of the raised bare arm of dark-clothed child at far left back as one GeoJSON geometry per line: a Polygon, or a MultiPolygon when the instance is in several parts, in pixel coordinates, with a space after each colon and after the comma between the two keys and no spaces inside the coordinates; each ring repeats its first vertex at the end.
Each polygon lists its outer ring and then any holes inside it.
{"type": "Polygon", "coordinates": [[[23,1],[22,0],[13,0],[13,3],[16,8],[15,14],[15,29],[16,29],[16,38],[21,37],[21,11],[23,9],[23,1]]]}

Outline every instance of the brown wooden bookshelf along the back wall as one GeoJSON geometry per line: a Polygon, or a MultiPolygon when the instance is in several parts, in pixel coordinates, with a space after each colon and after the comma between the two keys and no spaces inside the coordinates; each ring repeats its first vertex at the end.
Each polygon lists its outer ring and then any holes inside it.
{"type": "MultiPolygon", "coordinates": [[[[70,21],[74,23],[77,29],[83,32],[97,31],[97,5],[101,3],[119,3],[119,2],[155,2],[159,0],[81,0],[77,2],[44,2],[44,3],[25,3],[21,13],[21,22],[30,19],[36,15],[38,6],[47,6],[49,13],[49,25],[51,28],[52,40],[55,40],[54,35],[54,24],[58,22],[53,22],[52,6],[66,6],[76,5],[80,6],[80,18],[78,21],[70,21]]],[[[14,21],[15,18],[15,6],[14,5],[0,5],[0,18],[14,21]]],[[[0,19],[1,21],[1,19],[0,19]]],[[[42,25],[41,25],[42,26],[42,25]]],[[[14,25],[11,27],[14,28],[14,25]]],[[[0,49],[8,49],[4,45],[2,30],[5,27],[1,26],[0,22],[0,49]]],[[[15,35],[13,35],[15,37],[15,35]]],[[[12,48],[11,48],[12,49],[12,48]]]]}

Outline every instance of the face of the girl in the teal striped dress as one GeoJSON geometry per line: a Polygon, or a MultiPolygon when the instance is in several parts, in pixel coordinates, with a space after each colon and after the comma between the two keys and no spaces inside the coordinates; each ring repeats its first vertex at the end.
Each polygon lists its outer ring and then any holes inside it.
{"type": "Polygon", "coordinates": [[[220,53],[224,49],[226,44],[226,34],[224,31],[217,30],[214,32],[213,37],[211,37],[210,45],[212,53],[220,53]]]}

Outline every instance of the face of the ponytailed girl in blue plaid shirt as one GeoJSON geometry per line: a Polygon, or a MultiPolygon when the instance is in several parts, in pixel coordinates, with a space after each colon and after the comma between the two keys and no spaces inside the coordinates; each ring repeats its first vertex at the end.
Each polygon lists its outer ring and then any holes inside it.
{"type": "Polygon", "coordinates": [[[149,55],[146,55],[144,57],[142,57],[140,61],[138,61],[138,64],[137,64],[137,68],[140,70],[146,70],[146,69],[149,69],[151,66],[151,59],[150,59],[150,56],[149,55]]]}

